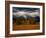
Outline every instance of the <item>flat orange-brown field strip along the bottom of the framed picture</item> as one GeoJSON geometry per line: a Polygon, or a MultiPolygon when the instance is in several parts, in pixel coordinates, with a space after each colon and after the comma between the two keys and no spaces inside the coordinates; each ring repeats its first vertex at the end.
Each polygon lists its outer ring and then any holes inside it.
{"type": "Polygon", "coordinates": [[[13,30],[38,30],[40,29],[40,25],[13,25],[13,30]]]}

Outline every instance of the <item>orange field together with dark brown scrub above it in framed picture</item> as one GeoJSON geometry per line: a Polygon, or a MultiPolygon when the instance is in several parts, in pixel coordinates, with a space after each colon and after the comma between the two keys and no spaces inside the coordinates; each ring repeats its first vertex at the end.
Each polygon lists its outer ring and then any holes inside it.
{"type": "Polygon", "coordinates": [[[13,30],[38,30],[40,29],[40,23],[32,19],[17,19],[13,22],[13,30]]]}

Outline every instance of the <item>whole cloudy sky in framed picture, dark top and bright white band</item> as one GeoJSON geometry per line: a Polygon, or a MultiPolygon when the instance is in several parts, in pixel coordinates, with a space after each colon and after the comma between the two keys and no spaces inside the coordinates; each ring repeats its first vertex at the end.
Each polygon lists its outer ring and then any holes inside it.
{"type": "Polygon", "coordinates": [[[19,15],[19,16],[39,16],[39,8],[23,8],[23,7],[13,7],[13,15],[19,15]]]}

